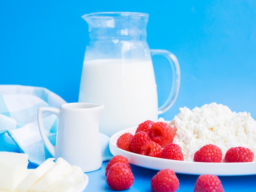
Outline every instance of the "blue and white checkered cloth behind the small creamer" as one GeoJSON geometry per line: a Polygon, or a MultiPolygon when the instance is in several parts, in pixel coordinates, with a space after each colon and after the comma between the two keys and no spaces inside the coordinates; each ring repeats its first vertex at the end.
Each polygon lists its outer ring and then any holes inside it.
{"type": "MultiPolygon", "coordinates": [[[[60,96],[43,87],[0,85],[0,151],[29,155],[29,166],[36,167],[52,155],[43,144],[37,123],[39,107],[60,107],[66,103],[60,96]]],[[[55,145],[58,118],[43,119],[45,132],[55,145]]],[[[109,137],[100,134],[102,160],[112,158],[109,137]]]]}

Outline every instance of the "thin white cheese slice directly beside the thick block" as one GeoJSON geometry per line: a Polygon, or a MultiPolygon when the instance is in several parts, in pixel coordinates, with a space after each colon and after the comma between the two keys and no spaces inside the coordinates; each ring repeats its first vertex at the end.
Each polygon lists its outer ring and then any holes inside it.
{"type": "Polygon", "coordinates": [[[36,169],[34,169],[30,174],[28,174],[15,190],[20,192],[28,191],[32,185],[40,180],[54,166],[54,164],[54,158],[47,159],[41,165],[36,167],[36,169]]]}

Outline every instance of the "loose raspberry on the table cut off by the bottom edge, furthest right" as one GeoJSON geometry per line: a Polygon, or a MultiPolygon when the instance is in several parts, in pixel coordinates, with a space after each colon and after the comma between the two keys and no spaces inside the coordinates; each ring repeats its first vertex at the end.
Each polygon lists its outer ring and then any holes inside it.
{"type": "Polygon", "coordinates": [[[200,175],[195,183],[194,192],[224,192],[224,189],[218,176],[200,175]]]}

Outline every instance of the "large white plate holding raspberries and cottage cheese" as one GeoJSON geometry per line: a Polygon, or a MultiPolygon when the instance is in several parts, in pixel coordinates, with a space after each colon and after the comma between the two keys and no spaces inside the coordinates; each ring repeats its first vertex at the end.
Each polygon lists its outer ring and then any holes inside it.
{"type": "Polygon", "coordinates": [[[111,136],[109,147],[110,152],[115,155],[125,156],[133,165],[146,167],[153,170],[169,168],[176,173],[182,174],[215,174],[219,176],[252,175],[256,174],[256,162],[248,163],[202,163],[193,161],[177,161],[171,159],[161,159],[140,155],[122,150],[117,147],[117,139],[124,133],[135,134],[137,127],[122,130],[111,136]]]}

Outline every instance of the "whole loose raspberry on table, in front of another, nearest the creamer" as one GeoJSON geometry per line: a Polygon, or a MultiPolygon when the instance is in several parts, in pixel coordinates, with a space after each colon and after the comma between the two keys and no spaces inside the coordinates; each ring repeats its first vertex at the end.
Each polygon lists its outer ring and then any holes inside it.
{"type": "Polygon", "coordinates": [[[107,184],[113,190],[126,190],[134,183],[132,170],[125,163],[115,163],[110,167],[107,184]]]}

